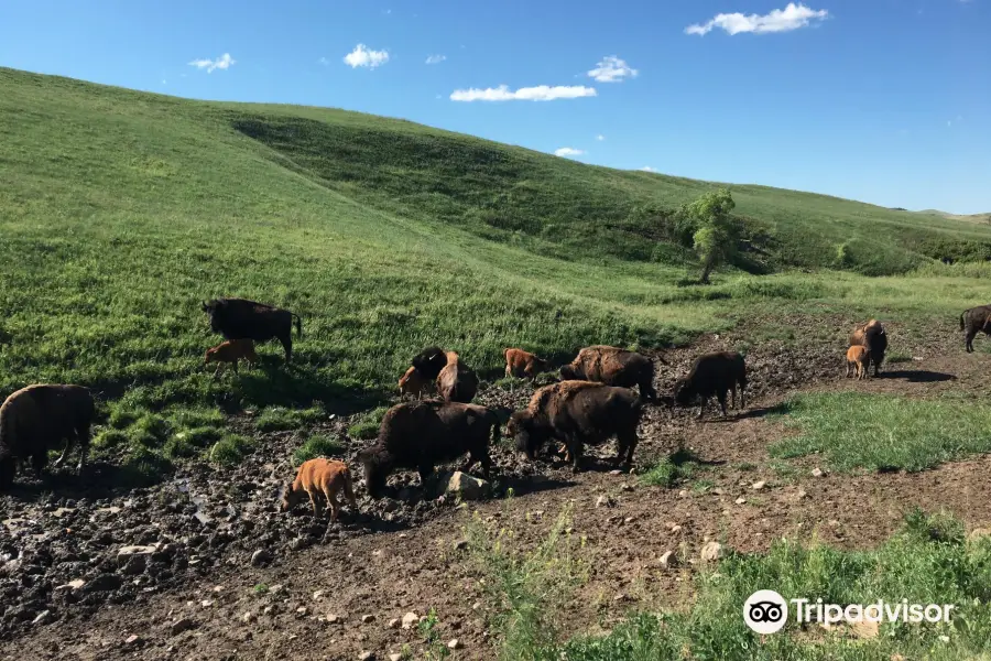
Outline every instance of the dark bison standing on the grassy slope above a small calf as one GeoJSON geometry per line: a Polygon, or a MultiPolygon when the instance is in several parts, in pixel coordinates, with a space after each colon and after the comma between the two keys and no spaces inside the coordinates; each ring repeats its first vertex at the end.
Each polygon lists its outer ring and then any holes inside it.
{"type": "Polygon", "coordinates": [[[285,349],[286,362],[293,357],[293,321],[296,323],[296,335],[303,335],[300,315],[246,299],[215,299],[204,303],[203,311],[210,315],[214,333],[227,339],[277,339],[285,349]]]}

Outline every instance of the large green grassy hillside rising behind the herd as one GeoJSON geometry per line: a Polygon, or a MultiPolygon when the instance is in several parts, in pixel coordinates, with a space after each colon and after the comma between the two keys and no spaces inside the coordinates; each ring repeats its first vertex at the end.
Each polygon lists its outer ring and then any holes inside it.
{"type": "MultiPolygon", "coordinates": [[[[507,346],[565,358],[591,343],[685,340],[808,301],[949,314],[982,297],[979,280],[941,274],[731,270],[686,286],[694,258],[658,247],[642,209],[666,213],[710,184],[338,110],[0,69],[0,145],[2,395],[75,381],[139,412],[333,407],[392,390],[428,344],[498,373],[507,346]],[[272,345],[265,369],[214,381],[202,359],[219,337],[199,303],[217,295],[301,314],[296,368],[275,368],[272,345]]],[[[897,273],[932,261],[927,246],[991,242],[974,224],[732,191],[773,269],[897,273]]]]}

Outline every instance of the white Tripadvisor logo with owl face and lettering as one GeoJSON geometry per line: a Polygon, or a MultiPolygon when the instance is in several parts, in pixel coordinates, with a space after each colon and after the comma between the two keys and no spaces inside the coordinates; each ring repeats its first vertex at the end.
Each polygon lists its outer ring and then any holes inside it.
{"type": "Polygon", "coordinates": [[[759,589],[743,603],[743,621],[756,633],[776,633],[788,620],[788,604],[798,624],[819,622],[836,625],[847,622],[949,622],[952,604],[910,604],[908,599],[885,602],[878,599],[868,605],[824,604],[823,599],[795,598],[785,602],[773,589],[759,589]]]}

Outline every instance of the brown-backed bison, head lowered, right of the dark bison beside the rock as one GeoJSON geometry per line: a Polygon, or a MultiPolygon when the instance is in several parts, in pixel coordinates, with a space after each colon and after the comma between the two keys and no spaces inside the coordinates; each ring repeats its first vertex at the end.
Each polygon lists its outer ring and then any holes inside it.
{"type": "Polygon", "coordinates": [[[593,381],[560,381],[533,393],[530,404],[516,411],[507,434],[516,440],[516,449],[534,459],[552,438],[564,441],[571,468],[581,468],[585,445],[617,438],[616,462],[633,462],[636,426],[642,407],[632,390],[593,381]]]}

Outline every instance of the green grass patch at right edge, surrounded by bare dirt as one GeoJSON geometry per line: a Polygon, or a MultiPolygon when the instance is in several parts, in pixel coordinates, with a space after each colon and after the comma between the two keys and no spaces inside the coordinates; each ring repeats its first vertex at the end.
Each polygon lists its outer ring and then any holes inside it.
{"type": "Polygon", "coordinates": [[[770,453],[819,453],[840,472],[924,470],[991,452],[991,409],[983,402],[839,392],[798,395],[786,411],[785,424],[799,434],[770,453]]]}

